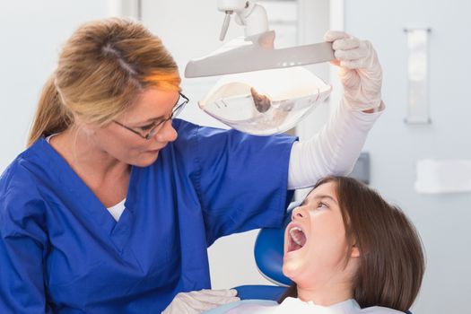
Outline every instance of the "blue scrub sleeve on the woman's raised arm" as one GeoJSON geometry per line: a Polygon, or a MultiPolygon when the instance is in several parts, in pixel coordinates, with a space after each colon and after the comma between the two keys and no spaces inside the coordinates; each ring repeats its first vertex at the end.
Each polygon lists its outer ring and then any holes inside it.
{"type": "Polygon", "coordinates": [[[208,246],[234,232],[280,227],[286,205],[289,135],[255,136],[198,127],[193,181],[205,217],[208,246]]]}

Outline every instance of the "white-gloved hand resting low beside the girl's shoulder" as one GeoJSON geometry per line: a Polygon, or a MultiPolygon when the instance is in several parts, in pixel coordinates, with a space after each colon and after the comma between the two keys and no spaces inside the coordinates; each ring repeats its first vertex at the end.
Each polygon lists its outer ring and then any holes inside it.
{"type": "Polygon", "coordinates": [[[197,314],[226,303],[239,301],[234,289],[179,292],[162,314],[197,314]]]}

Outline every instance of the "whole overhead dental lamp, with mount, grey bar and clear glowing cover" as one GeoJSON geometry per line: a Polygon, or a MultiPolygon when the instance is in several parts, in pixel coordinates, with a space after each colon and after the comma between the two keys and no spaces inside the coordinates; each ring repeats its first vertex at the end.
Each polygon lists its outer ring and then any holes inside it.
{"type": "Polygon", "coordinates": [[[207,114],[245,133],[272,135],[296,126],[327,99],[331,86],[300,65],[333,60],[332,43],[276,49],[262,5],[219,0],[218,10],[225,13],[221,40],[231,15],[245,27],[245,36],[188,62],[188,78],[226,74],[198,101],[207,114]]]}

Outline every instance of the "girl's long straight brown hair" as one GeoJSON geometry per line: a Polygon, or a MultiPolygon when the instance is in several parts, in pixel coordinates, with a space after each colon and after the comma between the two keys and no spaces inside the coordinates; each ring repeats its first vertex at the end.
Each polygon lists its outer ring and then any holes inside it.
{"type": "MultiPolygon", "coordinates": [[[[422,242],[414,225],[397,206],[389,205],[356,179],[327,177],[318,181],[315,188],[327,182],[336,185],[347,242],[360,249],[353,299],[362,308],[409,310],[425,270],[422,242]]],[[[297,297],[296,283],[279,302],[286,297],[297,297]]]]}

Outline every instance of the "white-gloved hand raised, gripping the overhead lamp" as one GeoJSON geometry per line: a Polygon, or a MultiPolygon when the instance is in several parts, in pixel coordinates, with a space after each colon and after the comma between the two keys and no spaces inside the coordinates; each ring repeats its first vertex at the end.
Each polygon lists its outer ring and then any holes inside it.
{"type": "Polygon", "coordinates": [[[382,71],[371,42],[356,39],[344,31],[327,31],[324,40],[333,43],[336,60],[332,63],[340,66],[347,104],[355,110],[378,109],[382,71]]]}

